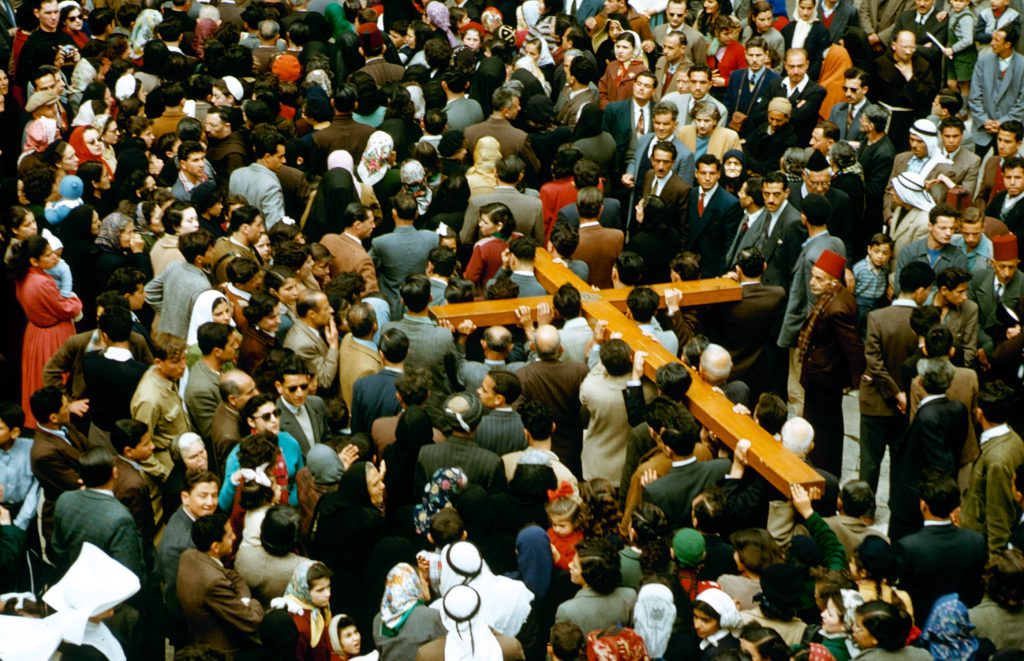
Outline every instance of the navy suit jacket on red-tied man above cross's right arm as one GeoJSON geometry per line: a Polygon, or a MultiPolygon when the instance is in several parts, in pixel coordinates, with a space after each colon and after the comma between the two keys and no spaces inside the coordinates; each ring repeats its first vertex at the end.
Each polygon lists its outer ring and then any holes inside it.
{"type": "Polygon", "coordinates": [[[701,276],[718,277],[726,270],[725,256],[736,235],[743,212],[739,208],[739,201],[728,190],[718,186],[712,196],[705,200],[703,214],[699,214],[697,206],[700,192],[698,187],[690,195],[686,246],[700,255],[701,276]]]}

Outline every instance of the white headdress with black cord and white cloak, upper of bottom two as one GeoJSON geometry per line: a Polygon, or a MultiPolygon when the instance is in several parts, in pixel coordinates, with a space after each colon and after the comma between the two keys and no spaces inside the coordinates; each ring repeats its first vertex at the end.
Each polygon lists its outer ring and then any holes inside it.
{"type": "MultiPolygon", "coordinates": [[[[441,552],[441,594],[447,594],[456,585],[469,585],[479,592],[478,619],[505,635],[519,632],[534,602],[534,592],[522,581],[495,576],[480,552],[468,541],[449,544],[441,552]]],[[[441,601],[434,602],[431,608],[441,612],[441,622],[449,633],[456,633],[457,622],[444,614],[441,601]]]]}

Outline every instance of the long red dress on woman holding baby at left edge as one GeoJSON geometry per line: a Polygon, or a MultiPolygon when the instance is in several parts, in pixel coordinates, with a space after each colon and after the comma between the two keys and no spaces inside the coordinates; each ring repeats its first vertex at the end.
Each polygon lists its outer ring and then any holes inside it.
{"type": "Polygon", "coordinates": [[[43,366],[57,352],[65,340],[75,335],[72,322],[82,312],[78,297],[60,296],[53,276],[33,266],[14,289],[17,302],[29,317],[22,343],[22,408],[27,427],[36,426],[29,406],[32,393],[42,388],[43,366]]]}

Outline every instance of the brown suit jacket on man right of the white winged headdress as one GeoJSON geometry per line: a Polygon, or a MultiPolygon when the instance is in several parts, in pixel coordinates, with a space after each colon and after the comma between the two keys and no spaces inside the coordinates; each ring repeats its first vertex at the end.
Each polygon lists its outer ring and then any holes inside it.
{"type": "Polygon", "coordinates": [[[188,548],[181,554],[177,576],[178,602],[198,645],[232,652],[256,647],[263,607],[233,569],[188,548]]]}

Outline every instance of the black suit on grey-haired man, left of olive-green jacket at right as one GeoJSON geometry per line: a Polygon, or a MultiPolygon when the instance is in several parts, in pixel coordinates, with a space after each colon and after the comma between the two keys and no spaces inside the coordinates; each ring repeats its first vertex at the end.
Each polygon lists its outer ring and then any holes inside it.
{"type": "MultiPolygon", "coordinates": [[[[932,469],[956,477],[967,425],[967,406],[945,395],[918,408],[906,435],[893,453],[889,478],[890,539],[899,539],[921,529],[919,501],[925,471],[932,469]]],[[[984,549],[983,537],[980,543],[984,549]]]]}

